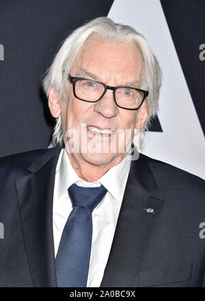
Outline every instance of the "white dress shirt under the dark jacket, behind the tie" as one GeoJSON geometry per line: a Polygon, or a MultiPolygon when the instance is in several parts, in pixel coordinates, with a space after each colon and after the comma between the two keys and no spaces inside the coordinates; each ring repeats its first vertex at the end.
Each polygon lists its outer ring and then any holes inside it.
{"type": "Polygon", "coordinates": [[[59,247],[61,234],[72,211],[72,203],[68,195],[68,188],[76,183],[79,186],[100,186],[107,189],[105,197],[92,213],[92,248],[87,287],[100,287],[104,274],[113,235],[122,204],[124,189],[128,178],[131,161],[125,157],[96,182],[85,182],[77,176],[72,168],[66,149],[61,149],[55,171],[55,186],[53,194],[53,237],[55,256],[59,247]]]}

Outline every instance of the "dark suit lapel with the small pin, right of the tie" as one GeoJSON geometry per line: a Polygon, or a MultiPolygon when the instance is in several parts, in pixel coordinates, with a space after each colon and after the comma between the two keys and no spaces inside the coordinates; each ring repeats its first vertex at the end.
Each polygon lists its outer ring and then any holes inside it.
{"type": "Polygon", "coordinates": [[[163,208],[163,201],[151,195],[158,186],[143,158],[131,164],[101,287],[132,286],[163,208]]]}

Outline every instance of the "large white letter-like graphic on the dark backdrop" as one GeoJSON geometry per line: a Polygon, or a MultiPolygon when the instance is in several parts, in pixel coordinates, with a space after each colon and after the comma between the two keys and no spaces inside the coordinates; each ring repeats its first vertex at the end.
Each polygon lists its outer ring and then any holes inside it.
{"type": "Polygon", "coordinates": [[[163,70],[159,121],[146,132],[143,154],[205,179],[205,141],[159,0],[115,0],[108,14],[146,36],[163,70]]]}

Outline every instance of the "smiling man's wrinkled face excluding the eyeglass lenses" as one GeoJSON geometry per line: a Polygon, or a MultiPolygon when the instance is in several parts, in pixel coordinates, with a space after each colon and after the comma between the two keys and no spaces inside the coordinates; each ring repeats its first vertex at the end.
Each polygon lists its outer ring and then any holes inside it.
{"type": "MultiPolygon", "coordinates": [[[[108,86],[126,86],[140,79],[141,69],[141,56],[135,45],[94,37],[83,45],[70,75],[96,79],[108,86]]],[[[141,128],[146,112],[144,103],[136,122],[137,111],[116,106],[111,90],[96,103],[81,101],[74,97],[68,81],[68,102],[61,100],[61,120],[67,152],[68,143],[72,147],[69,156],[77,162],[111,168],[127,154],[134,130],[141,128]],[[74,139],[77,143],[76,136],[68,139],[68,130],[72,129],[79,133],[79,149],[73,143],[74,139]],[[108,131],[103,132],[105,129],[108,131]],[[126,130],[129,134],[125,134],[126,130]]]]}

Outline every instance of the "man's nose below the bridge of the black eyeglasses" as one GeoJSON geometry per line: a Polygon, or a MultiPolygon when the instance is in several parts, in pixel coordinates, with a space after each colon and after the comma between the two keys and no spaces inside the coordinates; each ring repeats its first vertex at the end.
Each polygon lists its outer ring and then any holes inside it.
{"type": "Polygon", "coordinates": [[[94,105],[94,112],[100,113],[105,118],[111,118],[118,115],[118,106],[116,106],[113,91],[107,90],[105,95],[94,105]]]}

